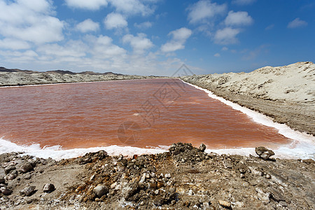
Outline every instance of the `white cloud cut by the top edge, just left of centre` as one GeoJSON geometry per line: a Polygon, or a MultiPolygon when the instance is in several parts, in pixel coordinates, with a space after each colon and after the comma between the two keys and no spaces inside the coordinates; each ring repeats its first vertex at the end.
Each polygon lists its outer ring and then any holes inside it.
{"type": "MultiPolygon", "coordinates": [[[[151,15],[154,10],[150,6],[145,5],[139,0],[110,0],[111,5],[113,5],[116,10],[120,13],[125,13],[127,15],[151,15]]],[[[155,1],[146,1],[148,3],[155,1]]]]}

